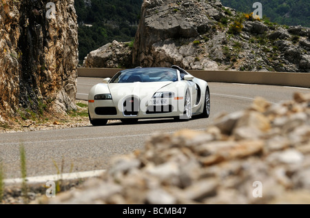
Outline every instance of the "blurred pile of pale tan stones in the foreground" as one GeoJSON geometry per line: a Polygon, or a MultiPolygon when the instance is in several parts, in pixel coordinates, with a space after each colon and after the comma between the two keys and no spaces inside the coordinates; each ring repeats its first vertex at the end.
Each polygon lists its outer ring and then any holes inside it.
{"type": "Polygon", "coordinates": [[[310,204],[310,94],[155,134],[141,151],[49,204],[310,204]],[[261,189],[260,189],[261,188],[261,189]]]}

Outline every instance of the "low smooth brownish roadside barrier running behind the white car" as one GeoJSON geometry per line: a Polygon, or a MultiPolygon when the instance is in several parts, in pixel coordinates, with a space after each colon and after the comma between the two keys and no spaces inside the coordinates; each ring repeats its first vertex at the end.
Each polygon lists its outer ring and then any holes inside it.
{"type": "MultiPolygon", "coordinates": [[[[81,77],[112,77],[121,69],[115,68],[86,68],[77,69],[81,77]]],[[[245,83],[260,85],[283,85],[291,87],[310,88],[310,73],[287,73],[287,72],[246,72],[246,71],[209,71],[209,70],[187,70],[189,74],[218,83],[245,83]]]]}

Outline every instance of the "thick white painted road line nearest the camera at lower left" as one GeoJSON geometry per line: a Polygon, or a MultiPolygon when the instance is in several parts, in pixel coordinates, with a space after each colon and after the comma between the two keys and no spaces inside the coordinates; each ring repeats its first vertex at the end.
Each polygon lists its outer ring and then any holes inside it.
{"type": "MultiPolygon", "coordinates": [[[[100,176],[104,173],[105,170],[98,170],[98,171],[85,171],[85,172],[77,172],[77,173],[63,173],[61,175],[42,175],[42,176],[34,176],[34,177],[26,177],[27,183],[45,183],[48,181],[56,182],[59,179],[68,180],[68,179],[83,179],[88,177],[96,177],[100,176]]],[[[19,184],[23,182],[22,178],[15,178],[15,179],[4,179],[4,183],[6,184],[19,184]]]]}

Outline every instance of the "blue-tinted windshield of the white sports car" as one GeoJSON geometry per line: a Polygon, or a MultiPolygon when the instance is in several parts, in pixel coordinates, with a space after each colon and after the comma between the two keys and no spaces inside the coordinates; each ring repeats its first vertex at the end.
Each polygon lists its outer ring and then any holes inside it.
{"type": "Polygon", "coordinates": [[[176,69],[172,68],[134,68],[118,72],[110,83],[151,83],[178,80],[176,69]]]}

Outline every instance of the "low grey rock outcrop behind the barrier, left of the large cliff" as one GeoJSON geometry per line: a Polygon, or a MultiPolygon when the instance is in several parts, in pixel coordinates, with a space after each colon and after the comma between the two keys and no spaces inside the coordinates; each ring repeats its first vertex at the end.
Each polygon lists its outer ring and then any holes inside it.
{"type": "Polygon", "coordinates": [[[130,43],[107,43],[98,50],[87,54],[83,67],[120,68],[132,66],[132,47],[130,43]]]}

